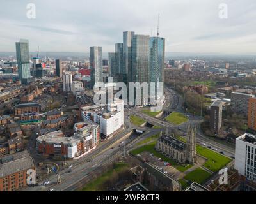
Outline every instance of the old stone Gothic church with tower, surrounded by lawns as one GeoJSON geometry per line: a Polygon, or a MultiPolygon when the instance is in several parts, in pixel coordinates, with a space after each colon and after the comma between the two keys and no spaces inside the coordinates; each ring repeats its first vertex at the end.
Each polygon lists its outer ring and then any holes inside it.
{"type": "Polygon", "coordinates": [[[170,135],[161,134],[155,149],[177,163],[196,163],[196,129],[191,126],[188,127],[186,142],[182,142],[170,135]]]}

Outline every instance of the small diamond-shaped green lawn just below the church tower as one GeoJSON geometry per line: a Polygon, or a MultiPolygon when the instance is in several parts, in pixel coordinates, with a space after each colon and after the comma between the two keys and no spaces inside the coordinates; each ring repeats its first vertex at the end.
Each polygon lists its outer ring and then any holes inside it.
{"type": "Polygon", "coordinates": [[[198,184],[204,184],[204,182],[211,177],[211,173],[203,170],[202,168],[196,168],[194,171],[189,172],[183,179],[190,180],[191,182],[197,182],[198,184]]]}

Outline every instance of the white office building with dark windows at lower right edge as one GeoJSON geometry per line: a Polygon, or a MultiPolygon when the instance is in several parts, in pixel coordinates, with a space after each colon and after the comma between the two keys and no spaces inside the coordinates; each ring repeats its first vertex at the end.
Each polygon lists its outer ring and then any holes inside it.
{"type": "Polygon", "coordinates": [[[235,169],[256,182],[256,135],[245,133],[236,138],[235,169]]]}

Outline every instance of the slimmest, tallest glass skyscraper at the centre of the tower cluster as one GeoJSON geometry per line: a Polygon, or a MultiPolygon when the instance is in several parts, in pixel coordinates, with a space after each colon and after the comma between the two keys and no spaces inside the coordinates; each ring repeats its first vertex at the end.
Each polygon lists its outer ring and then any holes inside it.
{"type": "Polygon", "coordinates": [[[132,82],[132,38],[133,36],[134,36],[134,31],[123,32],[123,74],[124,74],[124,78],[127,78],[127,82],[132,82]]]}

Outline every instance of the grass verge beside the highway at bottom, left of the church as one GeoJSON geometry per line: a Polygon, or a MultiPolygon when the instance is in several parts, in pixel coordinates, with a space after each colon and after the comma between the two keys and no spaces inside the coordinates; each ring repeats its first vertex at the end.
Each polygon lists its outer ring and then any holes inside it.
{"type": "Polygon", "coordinates": [[[118,173],[124,168],[128,166],[127,163],[117,163],[115,164],[114,168],[111,170],[108,170],[106,173],[103,173],[100,175],[97,179],[92,180],[89,184],[86,184],[86,186],[83,187],[82,191],[102,191],[104,189],[100,189],[100,186],[104,184],[104,182],[107,182],[109,179],[111,179],[111,176],[113,175],[113,170],[118,173]]]}

